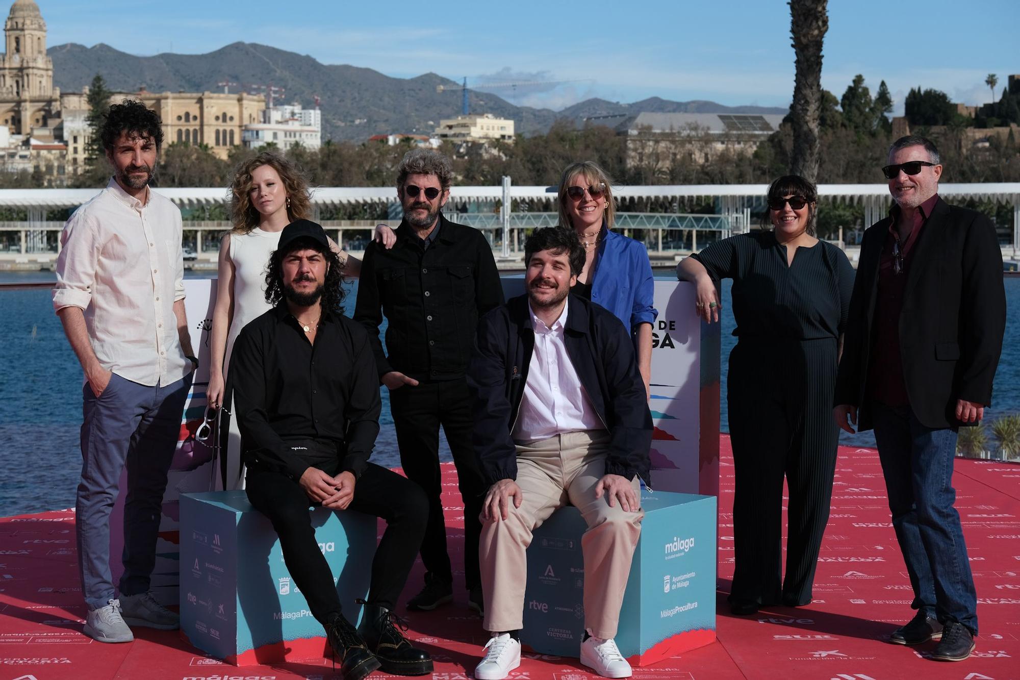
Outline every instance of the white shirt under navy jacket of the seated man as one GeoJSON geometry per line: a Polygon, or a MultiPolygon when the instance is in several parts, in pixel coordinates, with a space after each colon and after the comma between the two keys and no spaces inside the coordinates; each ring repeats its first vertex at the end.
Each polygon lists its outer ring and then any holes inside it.
{"type": "Polygon", "coordinates": [[[566,432],[605,430],[606,426],[580,384],[563,343],[567,302],[564,301],[563,313],[552,328],[536,315],[530,301],[527,308],[534,331],[534,351],[528,363],[527,383],[517,411],[513,438],[526,441],[548,439],[566,432]]]}

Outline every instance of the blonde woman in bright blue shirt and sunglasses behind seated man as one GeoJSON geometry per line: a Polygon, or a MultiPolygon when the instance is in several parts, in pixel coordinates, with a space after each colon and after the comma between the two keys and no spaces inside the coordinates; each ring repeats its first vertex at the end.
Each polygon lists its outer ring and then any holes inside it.
{"type": "Polygon", "coordinates": [[[591,160],[571,163],[560,177],[560,226],[577,232],[584,269],[571,291],[612,311],[634,343],[638,368],[649,392],[652,375],[652,264],[644,244],[613,231],[612,181],[591,160]]]}

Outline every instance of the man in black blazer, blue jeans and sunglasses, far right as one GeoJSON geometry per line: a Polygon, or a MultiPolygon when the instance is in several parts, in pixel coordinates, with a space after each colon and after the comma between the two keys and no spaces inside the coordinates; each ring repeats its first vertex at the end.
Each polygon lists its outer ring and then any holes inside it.
{"type": "Polygon", "coordinates": [[[875,430],[918,611],[889,641],[938,639],[934,659],[962,661],[974,649],[977,594],[953,506],[953,458],[957,428],[991,405],[1003,257],[987,217],[938,197],[934,144],[903,137],[888,163],[894,205],[861,242],[833,412],[848,432],[858,418],[875,430]]]}

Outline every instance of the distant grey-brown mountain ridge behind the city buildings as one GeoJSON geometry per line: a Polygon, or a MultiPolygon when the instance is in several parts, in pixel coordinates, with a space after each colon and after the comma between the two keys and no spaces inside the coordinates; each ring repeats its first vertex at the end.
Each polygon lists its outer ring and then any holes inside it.
{"type": "MultiPolygon", "coordinates": [[[[140,57],[100,43],[85,47],[74,43],[48,50],[53,58],[53,84],[65,92],[81,91],[96,74],[107,86],[124,92],[144,86],[150,92],[219,92],[217,83],[261,83],[286,88],[285,101],[311,106],[320,98],[325,139],[364,140],[384,133],[428,134],[441,118],[460,112],[459,92],[437,92],[436,86],[458,84],[424,74],[416,78],[391,78],[351,65],[319,63],[308,55],[258,45],[233,43],[208,54],[157,54],[140,57]]],[[[238,92],[233,88],[232,92],[238,92]]],[[[562,111],[515,106],[501,97],[471,92],[472,111],[512,118],[525,135],[545,133],[560,117],[657,112],[785,113],[761,106],[723,106],[710,101],[676,102],[652,97],[632,104],[589,99],[562,111]]]]}

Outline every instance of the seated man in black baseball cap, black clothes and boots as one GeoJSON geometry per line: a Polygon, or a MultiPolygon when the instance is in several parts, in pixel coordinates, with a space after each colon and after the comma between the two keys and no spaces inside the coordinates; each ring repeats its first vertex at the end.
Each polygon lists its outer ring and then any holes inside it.
{"type": "Polygon", "coordinates": [[[428,502],[413,482],[368,463],[379,429],[378,377],[368,334],[343,314],[341,269],[319,225],[299,220],[284,229],[266,275],[273,308],[241,331],[231,359],[245,490],[276,530],[345,680],[380,666],[423,675],[432,661],[401,635],[392,611],[421,544],[428,502]],[[387,522],[357,630],[341,612],[310,504],[387,522]]]}

